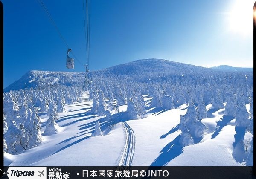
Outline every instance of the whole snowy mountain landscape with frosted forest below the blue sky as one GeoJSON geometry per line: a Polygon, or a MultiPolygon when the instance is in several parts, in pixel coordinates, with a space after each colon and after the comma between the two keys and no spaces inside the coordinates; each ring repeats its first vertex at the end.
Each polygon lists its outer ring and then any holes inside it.
{"type": "Polygon", "coordinates": [[[31,71],[5,89],[5,166],[253,165],[252,71],[146,59],[89,79],[31,71]]]}

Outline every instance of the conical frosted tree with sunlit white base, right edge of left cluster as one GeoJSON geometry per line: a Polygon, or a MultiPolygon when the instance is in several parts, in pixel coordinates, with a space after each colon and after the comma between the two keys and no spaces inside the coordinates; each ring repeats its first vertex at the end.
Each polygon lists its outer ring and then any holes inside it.
{"type": "Polygon", "coordinates": [[[55,122],[57,120],[58,120],[58,113],[55,106],[52,110],[52,113],[49,115],[49,119],[46,121],[44,135],[51,135],[51,134],[58,133],[58,131],[60,131],[60,127],[55,122]]]}

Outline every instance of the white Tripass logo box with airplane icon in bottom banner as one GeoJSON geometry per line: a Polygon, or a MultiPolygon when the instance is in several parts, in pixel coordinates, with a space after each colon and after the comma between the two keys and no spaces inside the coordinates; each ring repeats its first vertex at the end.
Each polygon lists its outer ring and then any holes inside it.
{"type": "Polygon", "coordinates": [[[47,167],[9,167],[9,179],[46,179],[47,167]]]}

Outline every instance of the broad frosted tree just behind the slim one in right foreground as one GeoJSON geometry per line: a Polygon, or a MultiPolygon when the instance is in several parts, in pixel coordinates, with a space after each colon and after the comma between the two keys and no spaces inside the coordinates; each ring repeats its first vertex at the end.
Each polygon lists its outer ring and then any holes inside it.
{"type": "Polygon", "coordinates": [[[198,120],[198,111],[192,101],[189,101],[189,107],[184,115],[189,133],[192,137],[201,137],[204,135],[204,130],[207,127],[198,120]]]}

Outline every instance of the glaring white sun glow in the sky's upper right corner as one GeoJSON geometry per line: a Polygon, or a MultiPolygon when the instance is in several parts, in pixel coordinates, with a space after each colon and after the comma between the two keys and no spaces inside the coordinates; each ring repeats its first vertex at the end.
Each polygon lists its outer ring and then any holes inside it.
{"type": "Polygon", "coordinates": [[[228,13],[230,31],[239,35],[251,35],[253,32],[253,4],[255,0],[232,1],[228,13]]]}

